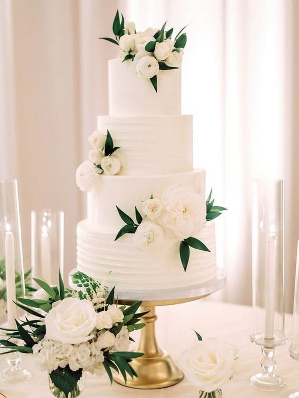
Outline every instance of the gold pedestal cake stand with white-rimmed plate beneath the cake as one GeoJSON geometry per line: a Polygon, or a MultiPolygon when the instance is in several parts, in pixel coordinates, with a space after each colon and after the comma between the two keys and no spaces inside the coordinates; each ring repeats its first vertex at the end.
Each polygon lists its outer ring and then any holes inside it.
{"type": "Polygon", "coordinates": [[[160,305],[173,305],[183,302],[189,302],[204,298],[213,292],[224,287],[225,273],[218,271],[217,277],[209,281],[205,286],[197,285],[188,289],[164,290],[153,293],[145,292],[117,292],[118,303],[130,305],[136,301],[142,301],[141,311],[149,311],[141,317],[142,323],[146,326],[141,329],[140,341],[137,351],[143,352],[144,355],[133,359],[130,365],[138,374],[137,378],[127,379],[124,382],[122,376],[116,374],[114,380],[126,387],[136,389],[159,389],[163,387],[173,386],[179,383],[184,375],[182,370],[172,360],[170,355],[159,348],[155,337],[155,307],[160,305]],[[166,298],[168,296],[168,298],[166,298]]]}

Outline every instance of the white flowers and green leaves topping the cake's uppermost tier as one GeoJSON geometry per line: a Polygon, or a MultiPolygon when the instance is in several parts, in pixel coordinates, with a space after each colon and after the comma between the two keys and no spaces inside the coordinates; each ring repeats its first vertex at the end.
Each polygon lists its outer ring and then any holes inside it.
{"type": "Polygon", "coordinates": [[[187,42],[186,26],[172,40],[173,28],[165,30],[166,22],[161,29],[148,28],[136,32],[135,23],[125,24],[124,16],[119,12],[112,24],[114,38],[99,37],[119,46],[119,57],[124,61],[134,61],[139,76],[149,79],[155,91],[157,76],[160,70],[178,69],[181,63],[183,49],[187,42]]]}

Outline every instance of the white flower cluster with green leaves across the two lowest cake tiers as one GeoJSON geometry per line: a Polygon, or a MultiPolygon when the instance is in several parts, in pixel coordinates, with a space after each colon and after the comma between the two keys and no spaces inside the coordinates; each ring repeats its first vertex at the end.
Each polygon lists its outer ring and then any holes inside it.
{"type": "Polygon", "coordinates": [[[173,185],[165,189],[162,199],[154,198],[142,202],[142,214],[135,206],[136,222],[120,208],[117,211],[126,223],[117,233],[115,240],[126,233],[134,234],[133,241],[143,250],[162,246],[164,239],[175,238],[180,241],[179,255],[186,271],[190,247],[210,251],[199,239],[198,234],[203,224],[218,217],[226,208],[214,206],[211,200],[212,190],[204,203],[201,195],[194,189],[173,185]]]}

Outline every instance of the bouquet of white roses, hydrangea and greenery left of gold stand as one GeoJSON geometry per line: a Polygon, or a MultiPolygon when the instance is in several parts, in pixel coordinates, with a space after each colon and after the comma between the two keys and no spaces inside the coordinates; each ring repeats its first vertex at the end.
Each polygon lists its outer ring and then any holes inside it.
{"type": "Polygon", "coordinates": [[[81,272],[72,276],[80,290],[66,289],[60,273],[59,286],[34,280],[41,289],[32,299],[17,301],[33,319],[16,320],[15,330],[2,328],[6,339],[0,340],[0,348],[32,353],[65,397],[83,371],[96,375],[106,371],[111,382],[112,369],[120,372],[125,381],[127,374],[137,376],[130,362],[143,354],[128,352],[128,348],[132,340],[129,333],[144,326],[139,323],[143,313],[136,313],[140,302],[118,307],[114,304],[114,288],[109,293],[100,282],[81,272]]]}

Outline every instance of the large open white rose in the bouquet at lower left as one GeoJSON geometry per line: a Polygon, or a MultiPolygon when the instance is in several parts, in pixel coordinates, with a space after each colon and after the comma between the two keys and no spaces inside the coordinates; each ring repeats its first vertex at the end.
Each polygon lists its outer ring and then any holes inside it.
{"type": "Polygon", "coordinates": [[[45,316],[46,337],[71,344],[88,341],[93,337],[96,320],[90,301],[65,298],[45,316]]]}

